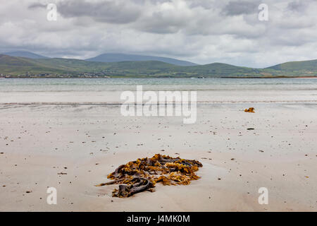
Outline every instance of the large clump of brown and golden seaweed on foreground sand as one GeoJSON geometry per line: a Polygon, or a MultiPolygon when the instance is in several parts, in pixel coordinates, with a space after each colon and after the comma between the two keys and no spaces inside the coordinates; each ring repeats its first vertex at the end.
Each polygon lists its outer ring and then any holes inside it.
{"type": "Polygon", "coordinates": [[[108,174],[111,182],[97,186],[119,184],[112,196],[124,198],[142,191],[154,191],[155,184],[159,182],[163,185],[190,184],[191,180],[199,179],[195,174],[199,167],[202,164],[197,160],[156,154],[120,165],[115,172],[108,174]]]}

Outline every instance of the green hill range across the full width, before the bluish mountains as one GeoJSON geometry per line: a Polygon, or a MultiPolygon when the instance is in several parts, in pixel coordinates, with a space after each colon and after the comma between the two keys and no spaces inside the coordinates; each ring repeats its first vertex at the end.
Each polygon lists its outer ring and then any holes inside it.
{"type": "Polygon", "coordinates": [[[213,63],[177,66],[162,61],[96,62],[80,59],[30,59],[0,54],[2,76],[35,77],[142,77],[142,78],[278,78],[317,76],[317,60],[278,64],[252,69],[213,63]]]}

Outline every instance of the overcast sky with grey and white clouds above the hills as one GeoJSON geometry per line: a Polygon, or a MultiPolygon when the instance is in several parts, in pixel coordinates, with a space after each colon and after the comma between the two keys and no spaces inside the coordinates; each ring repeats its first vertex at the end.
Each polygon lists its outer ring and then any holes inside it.
{"type": "Polygon", "coordinates": [[[1,0],[0,52],[106,52],[265,67],[317,59],[317,0],[1,0]],[[56,4],[49,21],[47,4],[56,4]],[[258,18],[267,4],[268,21],[258,18]]]}

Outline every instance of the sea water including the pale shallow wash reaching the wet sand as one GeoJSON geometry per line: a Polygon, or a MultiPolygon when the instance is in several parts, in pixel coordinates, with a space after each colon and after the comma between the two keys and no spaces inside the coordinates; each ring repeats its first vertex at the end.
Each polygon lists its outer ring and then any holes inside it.
{"type": "Polygon", "coordinates": [[[120,93],[197,90],[201,102],[316,102],[315,78],[6,78],[0,103],[119,102],[120,93]]]}

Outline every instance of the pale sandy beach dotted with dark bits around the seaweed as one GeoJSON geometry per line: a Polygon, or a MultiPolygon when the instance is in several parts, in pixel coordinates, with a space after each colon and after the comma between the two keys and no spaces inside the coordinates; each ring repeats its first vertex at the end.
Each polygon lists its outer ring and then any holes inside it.
{"type": "Polygon", "coordinates": [[[197,122],[182,124],[182,117],[123,117],[120,105],[32,98],[38,102],[0,100],[1,211],[317,210],[314,99],[201,103],[197,122]],[[130,198],[113,198],[116,185],[94,186],[155,153],[199,160],[201,178],[130,198]],[[48,187],[57,189],[57,205],[46,203],[48,187]],[[260,187],[268,205],[258,202],[260,187]]]}

